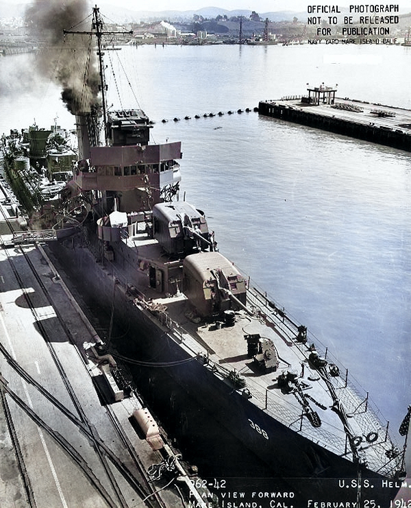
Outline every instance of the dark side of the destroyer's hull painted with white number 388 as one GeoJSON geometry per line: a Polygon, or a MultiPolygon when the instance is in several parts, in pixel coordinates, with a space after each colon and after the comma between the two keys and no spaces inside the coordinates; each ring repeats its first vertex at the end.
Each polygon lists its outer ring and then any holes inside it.
{"type": "MultiPolygon", "coordinates": [[[[106,313],[114,309],[116,321],[132,330],[127,342],[118,347],[121,354],[140,365],[138,388],[152,401],[154,410],[166,407],[168,413],[175,413],[175,420],[182,413],[190,419],[190,412],[203,411],[205,418],[219,422],[266,464],[273,489],[287,485],[299,503],[357,503],[361,490],[362,503],[373,500],[382,508],[390,507],[401,481],[388,482],[383,474],[338,456],[275,420],[264,404],[251,401],[229,380],[216,375],[203,356],[193,356],[175,330],[136,305],[127,287],[103,263],[96,263],[88,249],[75,247],[73,241],[66,246],[53,243],[50,248],[62,265],[75,267],[75,273],[81,274],[82,288],[88,287],[92,298],[99,295],[97,302],[106,313]],[[186,399],[175,398],[176,390],[195,400],[195,409],[186,406],[186,399]]],[[[195,439],[195,429],[192,432],[195,439]]],[[[258,479],[244,478],[244,482],[252,485],[251,490],[258,490],[258,479]]]]}

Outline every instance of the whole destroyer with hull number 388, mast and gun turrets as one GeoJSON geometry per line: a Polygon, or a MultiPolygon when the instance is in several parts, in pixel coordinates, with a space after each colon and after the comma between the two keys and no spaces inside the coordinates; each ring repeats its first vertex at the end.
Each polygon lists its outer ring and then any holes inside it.
{"type": "MultiPolygon", "coordinates": [[[[77,111],[78,160],[64,188],[53,186],[55,195],[32,192],[30,227],[53,223],[60,240],[49,248],[133,331],[127,356],[161,368],[273,478],[289,479],[306,500],[388,507],[406,475],[405,446],[306,326],[217,250],[203,211],[178,199],[181,143],[150,143],[153,125],[142,110],[107,110],[97,7],[90,34],[101,107],[77,111]]],[[[21,165],[33,174],[36,165],[50,167],[46,143],[34,158],[30,147],[51,134],[32,128],[27,144],[12,133],[6,163],[13,181],[21,165]]],[[[33,181],[27,174],[19,184],[33,181]]],[[[146,382],[167,393],[155,375],[146,382]]]]}

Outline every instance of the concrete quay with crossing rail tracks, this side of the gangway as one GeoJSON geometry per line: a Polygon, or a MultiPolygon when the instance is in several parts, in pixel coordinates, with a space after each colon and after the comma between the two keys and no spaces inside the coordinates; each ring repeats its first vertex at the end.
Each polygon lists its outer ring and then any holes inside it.
{"type": "Polygon", "coordinates": [[[42,247],[11,239],[0,237],[0,505],[184,507],[183,492],[205,506],[173,450],[130,423],[140,399],[102,400],[97,387],[110,388],[84,349],[97,333],[42,247]],[[151,481],[164,462],[173,472],[151,481]]]}

